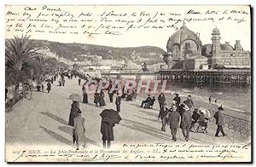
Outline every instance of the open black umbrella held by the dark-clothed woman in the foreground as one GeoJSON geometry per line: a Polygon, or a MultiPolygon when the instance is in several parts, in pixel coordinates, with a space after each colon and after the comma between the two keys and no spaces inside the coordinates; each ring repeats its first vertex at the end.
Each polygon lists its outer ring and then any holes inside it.
{"type": "Polygon", "coordinates": [[[119,116],[119,112],[116,112],[113,109],[105,109],[100,113],[102,121],[108,124],[119,124],[122,118],[119,116]]]}

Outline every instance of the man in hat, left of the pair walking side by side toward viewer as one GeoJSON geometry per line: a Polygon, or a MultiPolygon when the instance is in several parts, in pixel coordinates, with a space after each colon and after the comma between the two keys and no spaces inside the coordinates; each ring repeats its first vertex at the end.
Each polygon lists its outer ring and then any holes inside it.
{"type": "Polygon", "coordinates": [[[180,115],[177,112],[177,107],[175,105],[172,106],[169,113],[168,123],[170,124],[170,130],[172,134],[172,141],[177,141],[177,128],[180,121],[180,115]]]}

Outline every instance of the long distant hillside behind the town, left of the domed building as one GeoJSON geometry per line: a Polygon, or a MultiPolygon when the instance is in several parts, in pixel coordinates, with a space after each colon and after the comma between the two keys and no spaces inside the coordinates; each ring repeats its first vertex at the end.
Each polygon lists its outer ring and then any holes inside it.
{"type": "Polygon", "coordinates": [[[103,60],[132,60],[134,62],[152,60],[163,62],[162,55],[165,50],[154,46],[142,46],[132,48],[115,48],[84,43],[57,43],[45,40],[35,40],[38,48],[48,48],[50,52],[56,53],[67,60],[75,58],[81,60],[86,55],[99,55],[103,60]]]}

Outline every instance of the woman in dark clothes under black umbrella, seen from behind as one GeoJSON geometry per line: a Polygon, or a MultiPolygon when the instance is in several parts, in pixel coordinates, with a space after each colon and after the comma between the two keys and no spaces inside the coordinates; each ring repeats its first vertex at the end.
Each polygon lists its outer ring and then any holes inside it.
{"type": "Polygon", "coordinates": [[[102,133],[102,144],[103,147],[106,148],[108,142],[108,148],[111,145],[111,141],[113,141],[113,127],[114,124],[119,124],[120,120],[122,119],[119,116],[119,113],[114,111],[113,109],[105,109],[100,114],[102,117],[102,124],[101,124],[101,133],[102,133]]]}

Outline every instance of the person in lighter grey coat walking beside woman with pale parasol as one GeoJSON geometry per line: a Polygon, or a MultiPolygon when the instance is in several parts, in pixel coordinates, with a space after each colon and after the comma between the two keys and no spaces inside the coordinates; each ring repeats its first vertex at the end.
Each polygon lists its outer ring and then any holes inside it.
{"type": "Polygon", "coordinates": [[[73,123],[73,144],[76,143],[77,150],[79,150],[79,147],[85,147],[85,119],[82,118],[81,111],[77,113],[73,123]]]}

